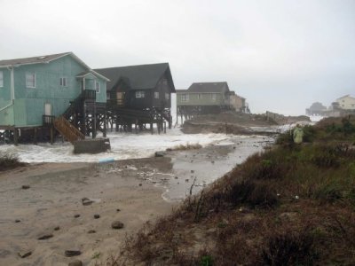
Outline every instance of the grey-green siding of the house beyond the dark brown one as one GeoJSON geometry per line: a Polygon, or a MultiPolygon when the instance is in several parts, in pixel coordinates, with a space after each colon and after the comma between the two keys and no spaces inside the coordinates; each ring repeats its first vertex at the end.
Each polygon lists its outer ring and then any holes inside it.
{"type": "Polygon", "coordinates": [[[195,93],[185,92],[177,93],[177,106],[222,106],[225,105],[225,97],[218,92],[211,93],[195,93]],[[188,97],[187,101],[182,100],[182,95],[188,97]],[[212,97],[215,95],[215,99],[212,97]]]}

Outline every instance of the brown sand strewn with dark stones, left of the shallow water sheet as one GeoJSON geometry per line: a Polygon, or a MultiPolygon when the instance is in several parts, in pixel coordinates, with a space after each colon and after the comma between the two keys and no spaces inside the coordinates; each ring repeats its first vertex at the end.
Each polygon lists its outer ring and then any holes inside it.
{"type": "Polygon", "coordinates": [[[172,207],[162,200],[162,188],[145,181],[139,169],[159,176],[171,171],[170,159],[48,163],[0,174],[0,265],[67,265],[74,260],[64,255],[67,249],[80,250],[76,258],[84,265],[117,254],[126,233],[172,207]],[[83,206],[83,198],[94,202],[83,206]],[[111,228],[115,220],[124,223],[122,230],[111,228]],[[53,237],[38,240],[45,234],[53,237]],[[32,254],[20,258],[18,253],[26,252],[32,254]]]}

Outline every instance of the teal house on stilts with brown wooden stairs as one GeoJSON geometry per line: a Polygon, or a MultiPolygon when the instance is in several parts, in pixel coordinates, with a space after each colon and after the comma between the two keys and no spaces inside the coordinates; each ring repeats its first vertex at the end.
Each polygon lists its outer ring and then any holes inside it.
{"type": "Polygon", "coordinates": [[[106,82],[72,52],[0,60],[0,142],[106,132],[106,82]]]}

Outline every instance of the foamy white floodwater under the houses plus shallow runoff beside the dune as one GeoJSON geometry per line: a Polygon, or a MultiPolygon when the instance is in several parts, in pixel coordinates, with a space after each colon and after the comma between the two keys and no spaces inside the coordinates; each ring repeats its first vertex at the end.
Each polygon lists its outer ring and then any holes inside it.
{"type": "MultiPolygon", "coordinates": [[[[271,131],[280,131],[272,128],[271,131]]],[[[168,201],[184,200],[187,195],[200,192],[207,184],[233,169],[249,155],[260,152],[274,141],[272,137],[238,136],[225,134],[184,134],[179,129],[167,134],[109,133],[111,151],[99,154],[74,154],[69,143],[55,145],[0,145],[0,152],[12,153],[21,161],[40,162],[98,162],[103,159],[125,160],[154,156],[178,145],[202,145],[201,149],[170,152],[170,173],[142,172],[144,179],[163,187],[162,198],[168,201]],[[151,176],[154,176],[152,178],[151,176]]]]}

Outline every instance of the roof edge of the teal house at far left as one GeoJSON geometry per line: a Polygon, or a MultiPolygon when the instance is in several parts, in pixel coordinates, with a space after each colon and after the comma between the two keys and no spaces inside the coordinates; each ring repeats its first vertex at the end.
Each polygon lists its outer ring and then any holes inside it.
{"type": "Polygon", "coordinates": [[[93,71],[88,65],[86,65],[82,59],[79,59],[75,54],[71,51],[68,52],[62,52],[62,53],[57,53],[57,54],[51,54],[51,55],[44,55],[44,56],[37,56],[37,57],[32,57],[32,58],[26,58],[26,59],[9,59],[9,60],[0,60],[0,67],[7,67],[7,66],[24,66],[24,65],[34,65],[34,64],[48,64],[53,60],[60,59],[66,56],[71,56],[75,61],[77,61],[80,65],[85,67],[88,72],[91,74],[97,75],[100,78],[106,80],[108,82],[109,80],[106,78],[106,76],[96,73],[93,71]]]}

